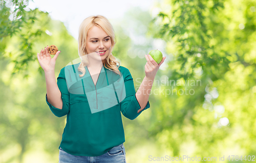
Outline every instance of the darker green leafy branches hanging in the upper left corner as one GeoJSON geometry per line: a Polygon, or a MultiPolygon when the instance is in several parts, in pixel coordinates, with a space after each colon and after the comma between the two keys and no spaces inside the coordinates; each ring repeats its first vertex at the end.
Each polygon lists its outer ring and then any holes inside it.
{"type": "MultiPolygon", "coordinates": [[[[12,75],[23,72],[26,78],[28,74],[28,64],[37,59],[33,51],[34,42],[45,33],[46,25],[50,21],[48,13],[29,9],[29,1],[7,1],[0,5],[0,59],[9,59],[15,64],[12,75]],[[38,15],[44,21],[36,25],[38,15]],[[44,15],[44,16],[43,16],[44,15]],[[15,42],[13,49],[6,49],[6,44],[13,36],[19,36],[19,42],[15,42]]],[[[39,72],[42,73],[42,69],[39,72]]]]}

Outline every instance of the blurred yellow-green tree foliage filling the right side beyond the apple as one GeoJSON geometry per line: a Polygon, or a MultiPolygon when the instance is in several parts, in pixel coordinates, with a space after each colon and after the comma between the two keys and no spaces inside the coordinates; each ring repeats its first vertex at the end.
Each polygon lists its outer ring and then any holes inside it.
{"type": "Polygon", "coordinates": [[[162,87],[170,94],[160,96],[161,109],[150,127],[151,136],[173,155],[255,153],[250,144],[256,139],[255,7],[250,0],[170,0],[156,5],[160,12],[151,26],[158,28],[148,32],[166,41],[173,58],[168,82],[186,82],[162,87]],[[200,85],[187,86],[193,80],[200,85]],[[185,95],[184,89],[195,94],[185,95]]]}

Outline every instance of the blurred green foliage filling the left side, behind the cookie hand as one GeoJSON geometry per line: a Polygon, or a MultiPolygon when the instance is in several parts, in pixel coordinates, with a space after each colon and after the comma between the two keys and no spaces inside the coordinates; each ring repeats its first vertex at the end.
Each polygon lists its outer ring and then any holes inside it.
{"type": "Polygon", "coordinates": [[[66,117],[56,118],[49,110],[37,52],[51,44],[62,50],[55,65],[57,77],[62,67],[78,58],[77,41],[48,13],[24,7],[15,8],[13,19],[6,2],[0,10],[0,159],[23,162],[29,150],[39,149],[56,161],[66,117]]]}

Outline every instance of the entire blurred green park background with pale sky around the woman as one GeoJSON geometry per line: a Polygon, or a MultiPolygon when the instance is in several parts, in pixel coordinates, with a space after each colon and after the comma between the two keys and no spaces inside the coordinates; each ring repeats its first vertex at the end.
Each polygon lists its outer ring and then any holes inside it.
{"type": "Polygon", "coordinates": [[[51,44],[61,50],[57,78],[78,58],[79,24],[97,14],[111,21],[112,53],[132,73],[136,90],[145,76],[144,55],[158,49],[166,56],[151,107],[135,120],[122,116],[127,162],[183,155],[256,160],[254,0],[18,3],[0,2],[0,162],[58,162],[66,116],[54,116],[45,101],[36,55],[51,44]]]}

